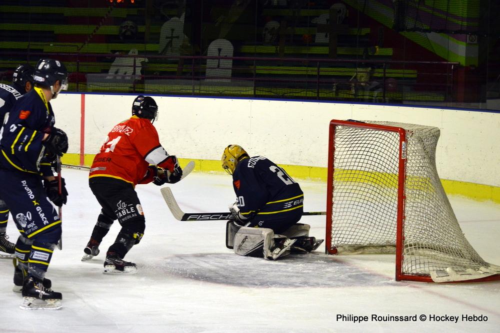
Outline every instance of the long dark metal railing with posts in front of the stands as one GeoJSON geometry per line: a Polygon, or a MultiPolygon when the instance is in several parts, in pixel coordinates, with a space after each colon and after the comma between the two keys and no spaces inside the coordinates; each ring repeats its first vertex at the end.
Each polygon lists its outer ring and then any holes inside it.
{"type": "Polygon", "coordinates": [[[365,101],[452,106],[458,63],[367,59],[0,53],[1,81],[21,63],[62,61],[70,91],[365,101]]]}

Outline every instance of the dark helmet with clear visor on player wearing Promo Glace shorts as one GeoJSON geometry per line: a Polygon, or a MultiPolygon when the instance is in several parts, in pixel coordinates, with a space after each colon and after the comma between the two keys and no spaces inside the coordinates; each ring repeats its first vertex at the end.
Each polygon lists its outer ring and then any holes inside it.
{"type": "Polygon", "coordinates": [[[67,90],[67,70],[61,62],[54,59],[40,59],[33,72],[33,81],[39,86],[50,88],[55,98],[59,91],[67,90]],[[53,91],[56,81],[60,81],[61,89],[53,91]]]}

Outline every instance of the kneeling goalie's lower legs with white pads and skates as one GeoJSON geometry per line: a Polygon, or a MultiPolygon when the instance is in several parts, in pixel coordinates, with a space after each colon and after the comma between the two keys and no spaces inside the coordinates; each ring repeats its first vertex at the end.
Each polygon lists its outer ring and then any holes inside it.
{"type": "Polygon", "coordinates": [[[309,253],[322,242],[309,237],[310,225],[297,223],[283,234],[269,228],[243,227],[234,221],[226,224],[226,247],[243,256],[276,260],[290,253],[309,253]]]}

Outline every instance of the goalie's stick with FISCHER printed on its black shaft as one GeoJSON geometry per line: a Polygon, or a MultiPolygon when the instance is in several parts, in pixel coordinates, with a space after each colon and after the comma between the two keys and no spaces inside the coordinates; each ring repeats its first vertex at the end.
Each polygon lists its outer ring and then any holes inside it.
{"type": "MultiPolygon", "coordinates": [[[[169,187],[161,188],[161,195],[165,200],[168,208],[172,212],[173,217],[179,221],[226,221],[235,219],[236,216],[230,212],[223,213],[184,213],[175,198],[173,197],[172,191],[169,187]]],[[[326,212],[303,212],[304,215],[326,215],[326,212]]]]}

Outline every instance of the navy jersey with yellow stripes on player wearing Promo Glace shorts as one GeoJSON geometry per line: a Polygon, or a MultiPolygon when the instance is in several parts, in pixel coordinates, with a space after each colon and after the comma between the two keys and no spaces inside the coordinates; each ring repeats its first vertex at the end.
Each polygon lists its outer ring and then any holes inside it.
{"type": "Polygon", "coordinates": [[[42,139],[55,122],[50,103],[39,88],[19,98],[0,130],[0,167],[28,173],[52,174],[42,139]]]}

